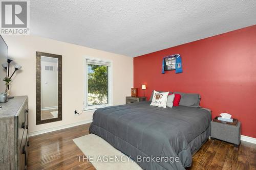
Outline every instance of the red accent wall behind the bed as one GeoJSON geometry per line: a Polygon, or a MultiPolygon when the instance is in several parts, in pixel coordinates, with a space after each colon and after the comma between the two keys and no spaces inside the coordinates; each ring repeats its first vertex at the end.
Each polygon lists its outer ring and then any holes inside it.
{"type": "Polygon", "coordinates": [[[242,135],[256,137],[256,25],[134,58],[134,87],[199,93],[212,117],[227,112],[242,123],[242,135]],[[180,54],[183,73],[165,71],[162,58],[180,54]]]}

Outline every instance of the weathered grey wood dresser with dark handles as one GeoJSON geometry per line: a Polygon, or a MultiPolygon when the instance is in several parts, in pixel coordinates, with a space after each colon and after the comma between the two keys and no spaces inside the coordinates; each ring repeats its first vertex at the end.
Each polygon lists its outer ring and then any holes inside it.
{"type": "Polygon", "coordinates": [[[0,105],[0,169],[27,169],[28,96],[14,96],[0,105]]]}

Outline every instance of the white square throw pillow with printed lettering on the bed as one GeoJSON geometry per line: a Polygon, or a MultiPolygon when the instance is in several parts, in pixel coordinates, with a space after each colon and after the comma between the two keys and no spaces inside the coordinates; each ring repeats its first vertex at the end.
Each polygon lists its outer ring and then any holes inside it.
{"type": "Polygon", "coordinates": [[[168,94],[169,94],[169,91],[160,93],[154,90],[154,94],[153,94],[153,98],[150,106],[158,106],[158,107],[166,108],[168,94]]]}

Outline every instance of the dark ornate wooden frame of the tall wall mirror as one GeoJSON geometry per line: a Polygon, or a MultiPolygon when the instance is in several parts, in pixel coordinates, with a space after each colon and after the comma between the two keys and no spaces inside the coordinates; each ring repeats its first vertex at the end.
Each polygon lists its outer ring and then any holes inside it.
{"type": "Polygon", "coordinates": [[[36,125],[62,120],[62,56],[36,52],[36,125]],[[41,120],[41,56],[58,59],[58,117],[41,120]]]}

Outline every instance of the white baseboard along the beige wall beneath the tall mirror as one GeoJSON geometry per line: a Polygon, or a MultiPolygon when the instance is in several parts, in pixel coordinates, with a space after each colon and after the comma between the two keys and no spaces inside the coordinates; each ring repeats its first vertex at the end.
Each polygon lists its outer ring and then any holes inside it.
{"type": "Polygon", "coordinates": [[[82,122],[77,122],[77,123],[74,123],[74,124],[62,125],[62,126],[58,126],[58,127],[54,127],[54,128],[40,130],[40,131],[29,132],[29,136],[40,135],[40,134],[44,134],[44,133],[48,133],[48,132],[53,132],[53,131],[66,129],[66,128],[71,128],[71,127],[74,127],[74,126],[89,124],[89,123],[92,123],[92,119],[84,120],[82,122]]]}

